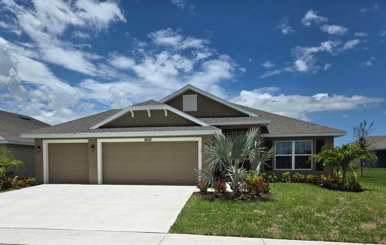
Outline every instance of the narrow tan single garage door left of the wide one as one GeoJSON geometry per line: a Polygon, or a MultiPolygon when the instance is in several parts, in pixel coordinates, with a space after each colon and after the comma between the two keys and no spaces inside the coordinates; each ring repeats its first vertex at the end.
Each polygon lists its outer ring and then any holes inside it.
{"type": "Polygon", "coordinates": [[[49,183],[89,183],[88,143],[49,143],[49,183]]]}

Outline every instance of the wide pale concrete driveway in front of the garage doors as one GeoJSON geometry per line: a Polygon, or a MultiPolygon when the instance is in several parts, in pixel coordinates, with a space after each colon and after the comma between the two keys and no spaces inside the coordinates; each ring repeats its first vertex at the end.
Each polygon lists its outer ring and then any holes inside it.
{"type": "Polygon", "coordinates": [[[0,227],[167,233],[194,186],[39,185],[0,193],[0,227]]]}

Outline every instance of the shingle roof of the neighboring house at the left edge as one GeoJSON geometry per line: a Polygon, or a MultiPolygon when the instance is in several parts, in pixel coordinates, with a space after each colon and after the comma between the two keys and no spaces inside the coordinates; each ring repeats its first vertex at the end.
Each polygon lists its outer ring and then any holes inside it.
{"type": "Polygon", "coordinates": [[[0,110],[0,139],[33,143],[33,139],[22,138],[20,135],[48,126],[50,125],[30,116],[0,110]]]}

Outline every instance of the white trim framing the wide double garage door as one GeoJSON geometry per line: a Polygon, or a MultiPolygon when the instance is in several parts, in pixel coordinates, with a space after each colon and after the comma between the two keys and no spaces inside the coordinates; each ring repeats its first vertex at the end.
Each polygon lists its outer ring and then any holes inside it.
{"type": "Polygon", "coordinates": [[[102,143],[103,142],[162,142],[162,141],[197,141],[198,142],[198,168],[202,167],[202,138],[201,137],[174,137],[174,138],[118,138],[118,139],[97,139],[97,161],[98,161],[98,185],[103,183],[102,173],[102,143]]]}

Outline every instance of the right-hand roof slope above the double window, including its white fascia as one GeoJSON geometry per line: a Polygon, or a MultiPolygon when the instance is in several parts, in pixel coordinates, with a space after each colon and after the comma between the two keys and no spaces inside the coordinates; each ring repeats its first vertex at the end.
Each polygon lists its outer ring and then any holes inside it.
{"type": "Polygon", "coordinates": [[[314,124],[309,121],[299,120],[288,116],[282,116],[267,111],[262,111],[246,106],[241,106],[245,110],[259,114],[271,119],[271,123],[262,128],[262,136],[344,136],[346,131],[330,128],[323,125],[314,124]]]}

